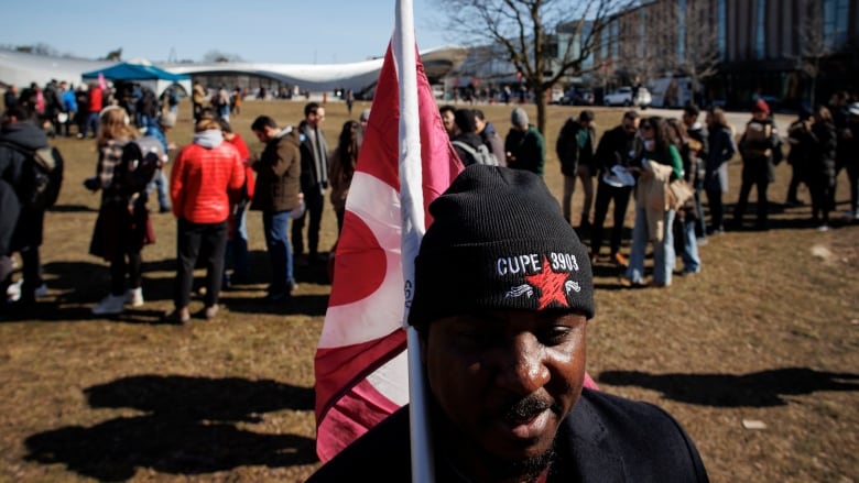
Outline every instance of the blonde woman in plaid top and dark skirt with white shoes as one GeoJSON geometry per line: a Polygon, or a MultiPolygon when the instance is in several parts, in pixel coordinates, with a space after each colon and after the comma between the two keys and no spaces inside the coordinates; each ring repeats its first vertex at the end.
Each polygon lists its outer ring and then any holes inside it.
{"type": "Polygon", "coordinates": [[[143,305],[141,251],[155,241],[145,184],[132,187],[121,175],[127,172],[122,164],[126,145],[138,138],[137,129],[129,122],[128,113],[118,106],[101,112],[96,176],[84,182],[91,191],[101,191],[89,253],[110,262],[110,293],[93,307],[97,316],[121,314],[126,304],[143,305]]]}

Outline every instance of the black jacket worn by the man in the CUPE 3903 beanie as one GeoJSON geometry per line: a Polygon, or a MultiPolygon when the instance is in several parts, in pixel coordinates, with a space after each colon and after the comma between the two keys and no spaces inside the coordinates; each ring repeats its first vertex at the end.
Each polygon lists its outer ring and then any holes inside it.
{"type": "MultiPolygon", "coordinates": [[[[584,389],[558,430],[557,443],[550,482],[708,481],[700,455],[679,424],[645,403],[584,389]]],[[[409,482],[410,448],[406,406],[342,450],[307,482],[409,482]]],[[[463,482],[438,457],[436,449],[435,480],[463,482]]]]}

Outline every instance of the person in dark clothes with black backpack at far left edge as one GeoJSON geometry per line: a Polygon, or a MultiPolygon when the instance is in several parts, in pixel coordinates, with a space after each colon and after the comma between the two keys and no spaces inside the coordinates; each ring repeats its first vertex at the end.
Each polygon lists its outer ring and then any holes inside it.
{"type": "MultiPolygon", "coordinates": [[[[36,292],[44,292],[42,279],[42,263],[39,249],[42,245],[42,231],[45,218],[45,207],[32,202],[34,189],[35,163],[33,155],[36,150],[47,147],[47,136],[35,125],[21,107],[8,109],[0,121],[0,178],[13,187],[18,197],[19,211],[14,224],[9,221],[14,217],[14,207],[7,212],[9,202],[3,204],[4,226],[14,226],[11,233],[6,232],[0,238],[7,239],[0,243],[0,256],[11,256],[13,252],[21,253],[23,284],[21,285],[20,307],[29,307],[35,303],[36,292]],[[3,246],[4,245],[4,246],[3,246]]],[[[9,200],[11,201],[11,200],[9,200]]],[[[6,230],[4,230],[6,231],[6,230]]],[[[4,274],[2,287],[8,287],[10,274],[4,274]]],[[[6,295],[6,290],[0,295],[6,295]]]]}

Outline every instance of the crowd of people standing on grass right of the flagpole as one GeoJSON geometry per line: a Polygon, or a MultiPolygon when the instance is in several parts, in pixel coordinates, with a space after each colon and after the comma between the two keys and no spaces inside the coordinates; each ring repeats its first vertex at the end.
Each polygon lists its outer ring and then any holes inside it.
{"type": "MultiPolygon", "coordinates": [[[[590,242],[590,260],[604,260],[602,243],[609,206],[613,204],[613,223],[609,237],[608,260],[623,270],[619,283],[628,287],[664,287],[672,275],[694,275],[702,271],[698,245],[708,235],[726,230],[742,230],[752,188],[757,189],[753,229],[768,228],[770,202],[768,187],[774,180],[774,168],[787,151],[793,177],[785,206],[802,204],[796,198],[800,184],[805,184],[812,198],[811,222],[818,230],[830,228],[835,209],[835,183],[841,169],[848,173],[850,208],[844,219],[859,219],[857,183],[859,167],[855,154],[859,139],[859,102],[849,103],[845,94],[836,94],[830,106],[806,110],[789,129],[787,149],[776,128],[770,107],[757,100],[751,119],[742,132],[735,132],[725,112],[714,107],[704,112],[686,106],[681,118],[643,118],[639,111],[622,114],[619,125],[606,130],[597,142],[591,110],[583,110],[561,128],[556,154],[564,178],[561,197],[562,213],[583,239],[590,242]],[[728,162],[739,153],[742,175],[732,217],[726,221],[724,195],[728,193],[728,162]],[[851,157],[852,156],[852,157],[851,157]],[[687,187],[678,199],[675,186],[687,187]],[[572,213],[572,199],[577,184],[581,185],[584,202],[578,220],[572,213]],[[596,186],[595,186],[596,185],[596,186]],[[708,211],[704,210],[706,195],[708,211]],[[634,222],[631,248],[621,252],[624,220],[630,200],[634,200],[634,222]],[[653,277],[644,277],[644,259],[652,244],[653,277]],[[677,259],[682,267],[677,270],[677,259]]],[[[491,123],[482,121],[479,110],[439,108],[442,121],[464,164],[498,164],[525,169],[540,176],[545,167],[545,141],[529,122],[522,108],[511,112],[511,128],[501,141],[491,123]],[[493,153],[492,162],[480,162],[471,150],[482,143],[493,153]]]]}

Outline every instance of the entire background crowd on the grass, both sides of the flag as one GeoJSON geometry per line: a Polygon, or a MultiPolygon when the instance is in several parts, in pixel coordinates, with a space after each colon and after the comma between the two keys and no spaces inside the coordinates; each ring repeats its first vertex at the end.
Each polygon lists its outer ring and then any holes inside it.
{"type": "MultiPolygon", "coordinates": [[[[18,131],[23,130],[29,133],[26,135],[32,134],[24,144],[41,146],[47,144],[45,135],[62,132],[62,124],[54,124],[59,122],[56,113],[70,113],[72,110],[68,107],[48,108],[54,101],[41,102],[39,99],[45,97],[45,92],[50,96],[53,96],[50,92],[56,92],[56,102],[63,102],[69,97],[66,92],[72,92],[72,87],[66,83],[53,84],[42,90],[42,96],[37,95],[37,86],[20,96],[14,96],[12,89],[7,92],[7,116],[0,141],[9,138],[9,142],[14,143],[14,138],[21,135],[18,131]],[[35,122],[22,123],[22,120],[35,122]],[[28,131],[22,127],[33,129],[28,131]]],[[[205,287],[199,289],[205,301],[200,314],[204,318],[217,315],[222,287],[248,282],[247,210],[262,212],[272,267],[265,301],[290,300],[297,287],[296,265],[326,263],[327,256],[319,250],[324,198],[329,193],[339,232],[369,110],[361,112],[358,121],[349,120],[342,125],[334,149],[328,145],[322,129],[324,105],[308,102],[304,119],[294,128],[281,128],[272,118],[261,116],[251,125],[253,134],[265,145],[257,157],[229,123],[229,114],[240,107],[240,90],[230,95],[221,86],[209,96],[199,83],[195,83],[192,92],[195,135],[193,143],[182,150],[177,150],[175,143],[168,143],[165,136],[175,127],[177,112],[177,102],[172,100],[170,89],[160,98],[148,95],[146,89],[135,94],[140,89],[133,85],[106,90],[93,83],[86,90],[79,90],[86,94],[85,99],[78,99],[86,108],[79,110],[85,110],[87,116],[83,125],[78,124],[78,136],[86,136],[91,129],[99,153],[96,176],[87,180],[87,187],[102,191],[90,253],[110,262],[111,267],[109,294],[93,308],[94,314],[119,314],[129,305],[143,304],[140,253],[154,237],[146,208],[153,191],[157,193],[159,210],[172,211],[177,218],[178,271],[175,307],[166,316],[170,321],[186,323],[191,319],[191,274],[195,266],[205,265],[209,271],[205,287]],[[148,103],[153,107],[141,109],[148,103]],[[115,172],[122,164],[124,146],[141,133],[159,141],[163,160],[145,189],[132,190],[117,180],[115,172]],[[175,154],[170,179],[163,166],[170,160],[166,153],[175,154]],[[206,260],[197,260],[200,256],[206,260]]],[[[457,109],[446,105],[439,108],[439,113],[464,165],[490,164],[544,175],[546,143],[523,108],[511,111],[511,128],[503,139],[483,112],[470,106],[457,109]]],[[[855,219],[859,216],[859,168],[850,157],[850,153],[856,152],[859,135],[859,103],[850,103],[846,95],[834,95],[828,108],[801,112],[786,135],[779,132],[763,100],[753,103],[751,119],[741,133],[733,131],[721,109],[711,108],[702,113],[693,105],[687,106],[677,119],[645,118],[637,110],[626,111],[620,123],[606,130],[599,140],[596,122],[595,112],[585,109],[566,120],[557,134],[555,151],[563,176],[562,215],[576,227],[579,237],[589,242],[592,264],[608,261],[619,268],[622,286],[664,287],[671,285],[676,273],[700,273],[703,263],[698,246],[707,242],[707,237],[744,228],[743,218],[752,188],[758,191],[754,228],[765,229],[770,211],[768,187],[784,151],[793,174],[786,206],[803,204],[797,198],[797,189],[805,184],[812,197],[814,226],[819,230],[829,229],[835,209],[835,182],[838,173],[847,169],[851,198],[850,210],[845,217],[855,219]],[[783,149],[785,142],[786,150],[783,149]],[[728,191],[727,163],[738,152],[743,163],[741,187],[732,218],[726,220],[722,198],[728,191]],[[689,188],[689,195],[682,200],[676,199],[674,185],[677,182],[689,188]],[[581,212],[573,213],[572,200],[578,184],[584,202],[581,212]],[[707,211],[704,210],[705,195],[707,211]],[[634,221],[629,250],[624,253],[624,221],[630,200],[633,200],[634,221]],[[606,218],[612,205],[606,254],[602,252],[606,218]],[[653,253],[651,281],[645,279],[644,270],[649,245],[653,253]],[[679,268],[677,259],[682,263],[679,268]]],[[[64,132],[70,135],[67,127],[64,132]]],[[[7,169],[7,173],[11,172],[7,169]]],[[[14,186],[12,176],[4,176],[14,186]]],[[[41,220],[33,216],[22,219],[41,220]]],[[[25,283],[19,281],[18,297],[26,303],[34,300],[34,294],[45,292],[37,254],[41,222],[32,224],[35,227],[23,237],[30,239],[29,242],[20,241],[22,237],[18,234],[14,241],[10,235],[10,240],[0,245],[7,254],[19,251],[22,255],[25,283]],[[35,246],[35,250],[24,245],[35,246]]],[[[8,230],[8,233],[25,231],[8,230]]],[[[6,264],[9,261],[10,256],[3,259],[6,264]]],[[[0,273],[4,287],[11,284],[10,273],[11,268],[0,273]]]]}

